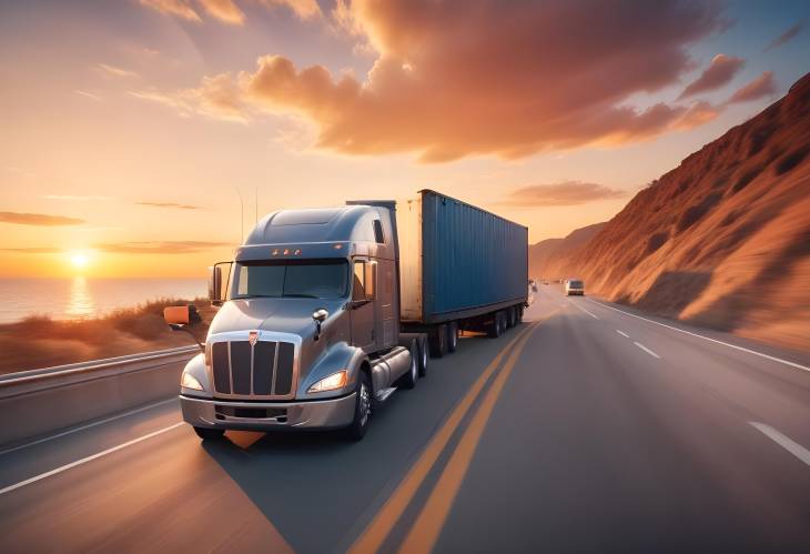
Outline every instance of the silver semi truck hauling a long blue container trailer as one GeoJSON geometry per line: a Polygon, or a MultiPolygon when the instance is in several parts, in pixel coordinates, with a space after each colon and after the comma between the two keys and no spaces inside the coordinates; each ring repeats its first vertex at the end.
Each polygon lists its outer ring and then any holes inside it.
{"type": "MultiPolygon", "coordinates": [[[[262,219],[210,269],[219,308],[181,375],[183,419],[225,430],[342,429],[353,440],[459,332],[497,338],[527,305],[528,230],[435,191],[262,219]]],[[[194,313],[168,309],[173,329],[194,313]]],[[[188,330],[188,329],[186,329],[188,330]]]]}

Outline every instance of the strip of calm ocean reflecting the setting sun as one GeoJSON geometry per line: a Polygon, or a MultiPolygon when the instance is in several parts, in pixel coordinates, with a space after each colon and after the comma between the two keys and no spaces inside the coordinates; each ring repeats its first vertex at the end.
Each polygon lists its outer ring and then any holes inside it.
{"type": "Polygon", "coordinates": [[[91,319],[160,298],[206,295],[200,279],[0,279],[0,323],[29,315],[91,319]]]}

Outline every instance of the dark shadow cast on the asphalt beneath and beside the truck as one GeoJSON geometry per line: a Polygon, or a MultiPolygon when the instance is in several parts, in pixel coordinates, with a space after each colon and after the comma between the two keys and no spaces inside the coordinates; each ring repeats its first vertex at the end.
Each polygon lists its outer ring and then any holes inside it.
{"type": "Polygon", "coordinates": [[[376,410],[363,441],[337,432],[229,432],[202,447],[296,552],[335,552],[399,483],[437,426],[518,329],[465,336],[428,376],[376,410]]]}

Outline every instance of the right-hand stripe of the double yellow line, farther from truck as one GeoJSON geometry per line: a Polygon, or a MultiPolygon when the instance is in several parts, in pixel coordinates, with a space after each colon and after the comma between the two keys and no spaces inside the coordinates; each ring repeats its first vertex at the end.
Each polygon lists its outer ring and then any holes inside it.
{"type": "Polygon", "coordinates": [[[447,520],[447,515],[453,507],[453,502],[462,486],[464,476],[467,474],[473,455],[486,429],[489,416],[493,413],[495,403],[530,335],[531,333],[527,333],[520,338],[520,342],[515,346],[504,367],[495,377],[495,382],[486,392],[480,407],[478,407],[478,411],[473,416],[473,421],[464,431],[462,440],[458,442],[449,462],[447,462],[447,465],[442,472],[442,476],[436,483],[436,486],[431,492],[427,503],[422,508],[422,513],[416,518],[416,523],[414,523],[411,532],[405,537],[399,548],[401,553],[425,553],[431,552],[435,546],[442,527],[447,520]]]}

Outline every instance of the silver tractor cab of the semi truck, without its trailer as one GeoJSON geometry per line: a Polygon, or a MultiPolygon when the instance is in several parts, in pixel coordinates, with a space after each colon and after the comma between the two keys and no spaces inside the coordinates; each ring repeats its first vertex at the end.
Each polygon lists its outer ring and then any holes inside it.
{"type": "Polygon", "coordinates": [[[212,268],[221,308],[180,393],[201,437],[345,427],[358,440],[372,405],[424,374],[425,338],[399,333],[394,202],[374,204],[275,212],[212,268]]]}

